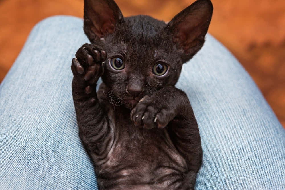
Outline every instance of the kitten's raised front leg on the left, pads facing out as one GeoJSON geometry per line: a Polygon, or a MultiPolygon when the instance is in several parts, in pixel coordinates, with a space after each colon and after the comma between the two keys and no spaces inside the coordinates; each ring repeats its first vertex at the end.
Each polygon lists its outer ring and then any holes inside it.
{"type": "Polygon", "coordinates": [[[95,164],[106,160],[113,142],[113,130],[96,93],[96,83],[103,74],[106,52],[101,47],[84,44],[72,59],[72,96],[80,138],[95,164]],[[103,62],[104,64],[104,62],[103,62]]]}

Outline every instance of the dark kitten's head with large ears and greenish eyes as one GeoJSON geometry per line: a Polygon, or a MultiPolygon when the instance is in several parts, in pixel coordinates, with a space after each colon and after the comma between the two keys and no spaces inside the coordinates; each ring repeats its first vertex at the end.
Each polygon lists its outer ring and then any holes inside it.
{"type": "Polygon", "coordinates": [[[132,108],[145,95],[176,84],[182,64],[203,46],[213,5],[198,0],[168,24],[123,17],[113,0],[84,0],[84,32],[107,52],[103,82],[113,100],[132,108]]]}

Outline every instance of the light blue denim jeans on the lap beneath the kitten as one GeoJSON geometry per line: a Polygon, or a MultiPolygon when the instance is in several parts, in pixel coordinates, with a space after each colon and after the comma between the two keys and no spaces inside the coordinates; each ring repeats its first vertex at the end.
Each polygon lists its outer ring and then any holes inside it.
{"type": "MultiPolygon", "coordinates": [[[[38,23],[0,86],[0,189],[96,189],[78,136],[70,70],[82,20],[38,23]]],[[[239,62],[212,36],[176,87],[200,128],[196,189],[285,189],[285,131],[239,62]]]]}

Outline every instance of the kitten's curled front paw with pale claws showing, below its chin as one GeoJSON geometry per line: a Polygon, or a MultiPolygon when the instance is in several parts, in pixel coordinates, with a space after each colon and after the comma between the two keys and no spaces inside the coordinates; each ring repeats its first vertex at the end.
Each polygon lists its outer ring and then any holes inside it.
{"type": "Polygon", "coordinates": [[[135,126],[151,129],[164,128],[175,117],[174,109],[153,97],[144,97],[131,111],[135,126]]]}

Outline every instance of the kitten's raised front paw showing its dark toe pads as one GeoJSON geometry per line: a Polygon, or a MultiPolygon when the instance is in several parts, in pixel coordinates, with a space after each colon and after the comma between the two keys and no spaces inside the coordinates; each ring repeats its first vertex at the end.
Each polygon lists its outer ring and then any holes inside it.
{"type": "Polygon", "coordinates": [[[99,46],[84,44],[72,59],[71,70],[78,85],[84,85],[85,92],[91,93],[92,86],[104,72],[106,52],[99,46]]]}

